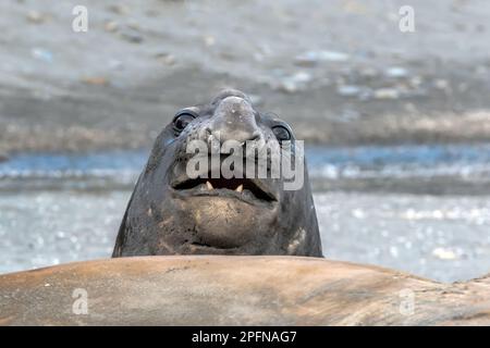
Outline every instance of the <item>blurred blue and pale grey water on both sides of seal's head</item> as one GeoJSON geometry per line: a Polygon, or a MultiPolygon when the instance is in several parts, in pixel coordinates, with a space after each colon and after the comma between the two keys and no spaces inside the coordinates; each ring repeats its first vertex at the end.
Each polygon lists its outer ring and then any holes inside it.
{"type": "MultiPolygon", "coordinates": [[[[0,163],[0,273],[109,257],[146,157],[0,163]]],[[[327,257],[443,282],[490,271],[489,145],[310,147],[307,159],[327,257]]]]}

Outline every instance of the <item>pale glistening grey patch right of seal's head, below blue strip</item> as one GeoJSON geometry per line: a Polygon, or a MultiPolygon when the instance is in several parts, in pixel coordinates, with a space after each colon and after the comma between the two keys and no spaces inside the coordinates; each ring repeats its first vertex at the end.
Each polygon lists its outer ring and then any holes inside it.
{"type": "Polygon", "coordinates": [[[490,272],[487,196],[319,194],[326,257],[403,270],[440,282],[490,272]]]}

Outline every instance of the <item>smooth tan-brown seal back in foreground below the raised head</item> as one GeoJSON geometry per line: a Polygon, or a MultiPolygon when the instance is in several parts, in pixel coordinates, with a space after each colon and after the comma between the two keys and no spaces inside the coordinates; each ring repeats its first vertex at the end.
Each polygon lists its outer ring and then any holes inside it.
{"type": "Polygon", "coordinates": [[[120,258],[1,275],[0,324],[490,325],[490,276],[440,284],[319,258],[120,258]]]}

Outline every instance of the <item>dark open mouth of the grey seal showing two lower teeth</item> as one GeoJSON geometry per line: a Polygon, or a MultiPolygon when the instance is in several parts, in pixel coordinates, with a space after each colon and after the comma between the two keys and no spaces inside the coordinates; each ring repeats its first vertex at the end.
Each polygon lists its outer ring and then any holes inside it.
{"type": "Polygon", "coordinates": [[[189,178],[174,185],[173,188],[192,192],[194,196],[234,197],[248,202],[277,200],[260,181],[250,178],[189,178]]]}

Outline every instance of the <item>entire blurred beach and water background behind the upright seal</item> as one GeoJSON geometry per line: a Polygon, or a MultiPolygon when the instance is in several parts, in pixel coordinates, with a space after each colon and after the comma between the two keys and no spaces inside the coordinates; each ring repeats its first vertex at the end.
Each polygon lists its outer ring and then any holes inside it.
{"type": "Polygon", "coordinates": [[[160,129],[223,87],[306,140],[328,258],[488,273],[489,17],[485,0],[1,1],[0,273],[108,258],[160,129]]]}

